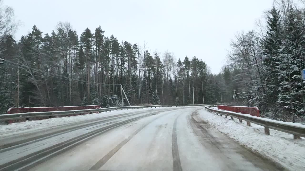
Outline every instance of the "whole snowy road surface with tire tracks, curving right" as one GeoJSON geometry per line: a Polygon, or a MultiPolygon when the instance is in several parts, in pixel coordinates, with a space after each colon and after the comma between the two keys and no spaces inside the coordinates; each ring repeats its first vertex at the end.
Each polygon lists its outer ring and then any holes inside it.
{"type": "Polygon", "coordinates": [[[282,170],[206,124],[202,108],[128,110],[2,134],[0,170],[282,170]]]}

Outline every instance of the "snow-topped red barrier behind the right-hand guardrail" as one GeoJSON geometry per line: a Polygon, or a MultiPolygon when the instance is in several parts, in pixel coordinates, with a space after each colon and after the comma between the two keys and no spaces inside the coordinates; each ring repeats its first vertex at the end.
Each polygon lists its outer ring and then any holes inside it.
{"type": "Polygon", "coordinates": [[[237,113],[250,114],[251,116],[260,116],[260,110],[258,107],[248,107],[248,106],[222,106],[217,105],[219,110],[227,110],[237,113]]]}

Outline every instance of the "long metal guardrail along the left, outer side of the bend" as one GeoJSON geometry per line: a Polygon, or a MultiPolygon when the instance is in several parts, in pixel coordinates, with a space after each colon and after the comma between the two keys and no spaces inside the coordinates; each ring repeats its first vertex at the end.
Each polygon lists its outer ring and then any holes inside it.
{"type": "Polygon", "coordinates": [[[81,113],[97,113],[119,109],[141,109],[141,108],[153,108],[153,107],[178,107],[178,106],[206,106],[206,105],[217,105],[215,104],[202,104],[202,105],[154,105],[154,106],[126,106],[126,107],[108,107],[101,109],[86,109],[86,110],[67,110],[67,111],[52,111],[52,112],[30,112],[30,113],[13,113],[13,114],[2,114],[0,120],[15,120],[21,118],[33,118],[33,117],[56,117],[71,114],[81,113]]]}

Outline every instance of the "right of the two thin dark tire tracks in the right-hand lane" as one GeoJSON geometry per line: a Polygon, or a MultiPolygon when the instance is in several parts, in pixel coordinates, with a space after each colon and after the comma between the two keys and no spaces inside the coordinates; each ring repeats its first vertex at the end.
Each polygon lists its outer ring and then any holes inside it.
{"type": "Polygon", "coordinates": [[[175,119],[174,127],[173,127],[173,135],[172,135],[172,153],[173,153],[173,168],[174,168],[174,171],[182,171],[180,157],[179,157],[178,141],[177,141],[177,120],[178,120],[178,117],[175,119]]]}

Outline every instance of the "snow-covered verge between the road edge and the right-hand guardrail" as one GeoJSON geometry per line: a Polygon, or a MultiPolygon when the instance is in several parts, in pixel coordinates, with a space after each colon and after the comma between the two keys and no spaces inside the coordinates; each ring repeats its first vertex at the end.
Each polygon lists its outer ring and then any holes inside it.
{"type": "Polygon", "coordinates": [[[300,171],[305,170],[305,140],[293,139],[291,134],[270,129],[270,135],[264,134],[264,127],[238,119],[217,116],[205,109],[198,110],[199,117],[207,121],[220,132],[245,145],[254,152],[279,163],[283,167],[300,171]]]}

